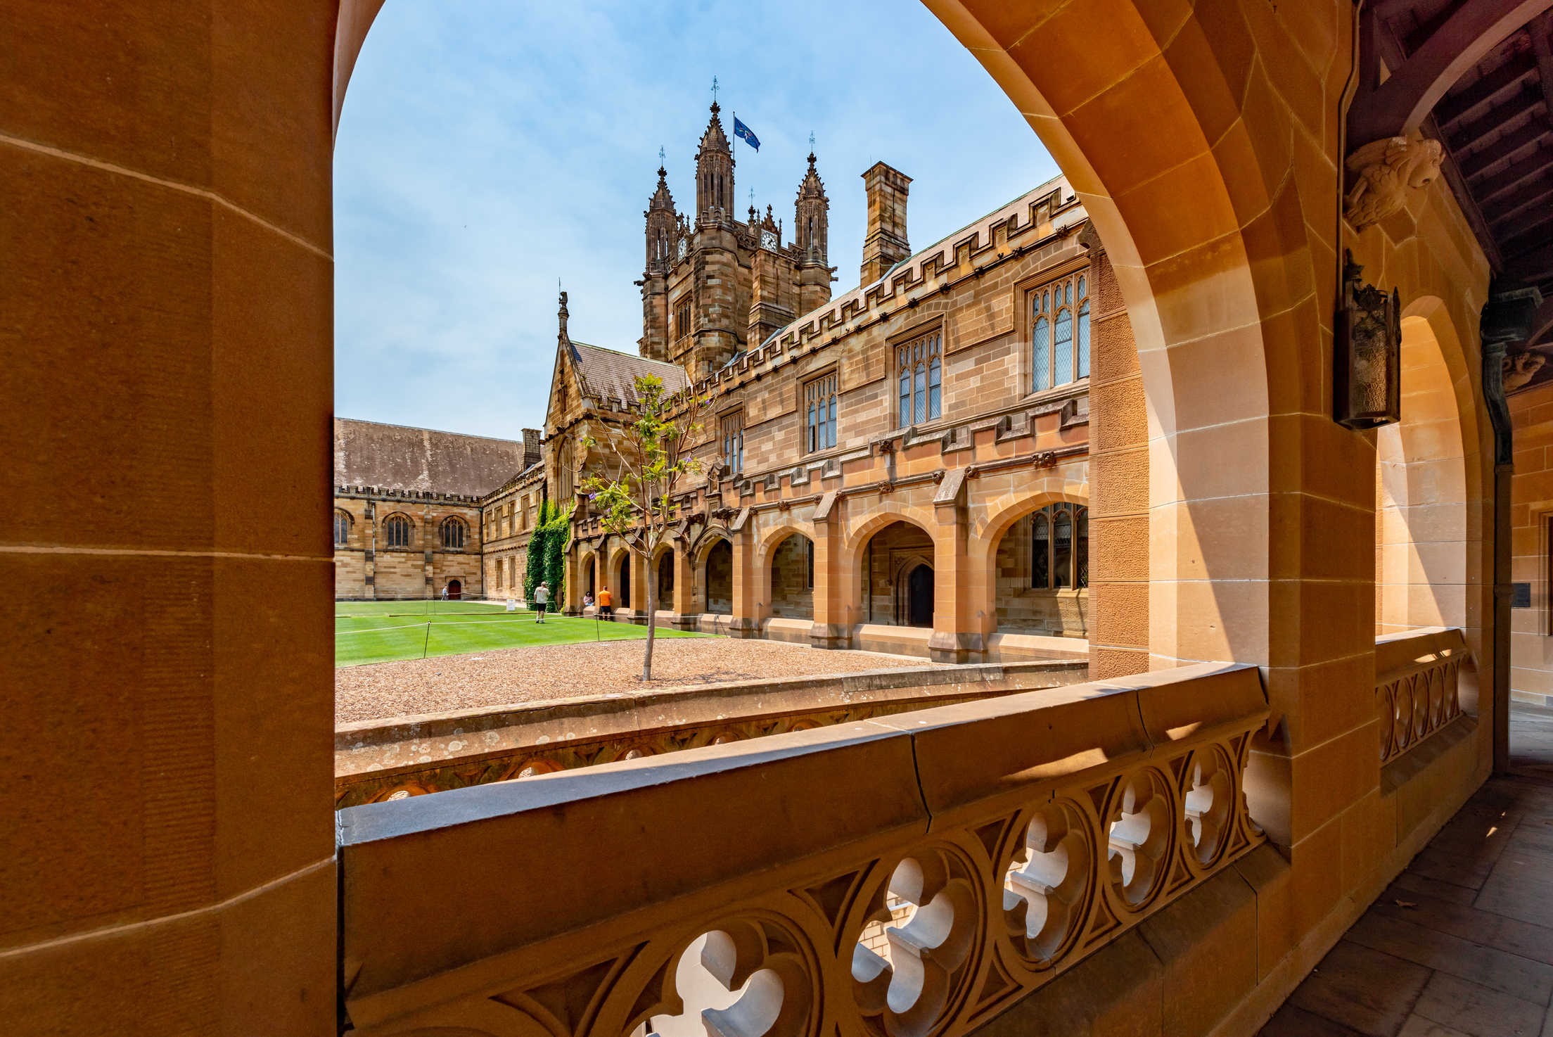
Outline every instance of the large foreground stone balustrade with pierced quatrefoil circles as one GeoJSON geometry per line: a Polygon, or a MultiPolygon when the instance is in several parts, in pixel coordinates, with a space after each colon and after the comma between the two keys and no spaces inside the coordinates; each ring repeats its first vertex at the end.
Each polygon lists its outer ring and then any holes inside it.
{"type": "Polygon", "coordinates": [[[1263,841],[1267,716],[1255,668],[1200,664],[349,807],[345,1008],[957,1037],[1263,841]]]}

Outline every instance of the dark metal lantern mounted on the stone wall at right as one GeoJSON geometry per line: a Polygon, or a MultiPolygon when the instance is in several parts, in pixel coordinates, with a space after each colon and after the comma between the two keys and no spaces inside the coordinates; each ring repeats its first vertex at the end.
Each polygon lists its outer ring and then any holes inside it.
{"type": "Polygon", "coordinates": [[[1364,272],[1345,250],[1343,295],[1332,343],[1332,419],[1348,428],[1378,428],[1402,418],[1402,301],[1362,284],[1364,272]]]}

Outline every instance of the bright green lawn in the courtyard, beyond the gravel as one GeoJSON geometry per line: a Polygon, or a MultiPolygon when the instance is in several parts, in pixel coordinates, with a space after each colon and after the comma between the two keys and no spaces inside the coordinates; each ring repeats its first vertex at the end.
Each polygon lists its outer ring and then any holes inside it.
{"type": "MultiPolygon", "coordinates": [[[[500,602],[478,601],[339,601],[334,604],[334,664],[388,663],[401,658],[463,655],[530,644],[632,641],[646,627],[506,612],[500,602]]],[[[658,629],[660,638],[700,633],[658,629]]]]}

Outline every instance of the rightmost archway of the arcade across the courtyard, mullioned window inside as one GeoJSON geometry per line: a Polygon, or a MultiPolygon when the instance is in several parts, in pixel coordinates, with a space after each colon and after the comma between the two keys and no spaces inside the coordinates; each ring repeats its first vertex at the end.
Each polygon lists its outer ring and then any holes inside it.
{"type": "Polygon", "coordinates": [[[1016,518],[991,577],[999,633],[1089,636],[1089,508],[1054,501],[1016,518]]]}

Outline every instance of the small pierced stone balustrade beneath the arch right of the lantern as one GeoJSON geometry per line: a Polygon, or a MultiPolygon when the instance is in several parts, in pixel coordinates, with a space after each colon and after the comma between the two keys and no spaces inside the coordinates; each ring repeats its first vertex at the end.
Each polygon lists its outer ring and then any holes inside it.
{"type": "Polygon", "coordinates": [[[1381,764],[1390,764],[1461,716],[1458,678],[1471,661],[1461,630],[1423,627],[1374,641],[1381,764]]]}

